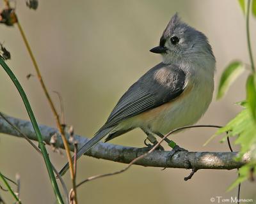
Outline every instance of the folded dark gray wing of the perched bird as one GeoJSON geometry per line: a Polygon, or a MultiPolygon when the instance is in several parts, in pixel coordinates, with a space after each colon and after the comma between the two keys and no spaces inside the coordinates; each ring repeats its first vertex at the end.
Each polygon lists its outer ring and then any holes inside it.
{"type": "Polygon", "coordinates": [[[185,79],[177,66],[157,64],[125,92],[100,130],[172,101],[184,91],[185,79]]]}

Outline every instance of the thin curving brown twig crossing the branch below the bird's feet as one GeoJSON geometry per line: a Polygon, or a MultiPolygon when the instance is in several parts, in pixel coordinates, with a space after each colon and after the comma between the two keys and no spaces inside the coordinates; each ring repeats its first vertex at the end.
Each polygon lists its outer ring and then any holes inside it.
{"type": "Polygon", "coordinates": [[[80,182],[79,184],[77,184],[76,187],[79,187],[81,186],[82,184],[86,183],[86,182],[89,182],[91,180],[95,180],[95,179],[99,179],[99,178],[102,178],[102,177],[108,177],[108,176],[112,176],[112,175],[116,175],[116,174],[119,174],[119,173],[122,173],[126,170],[128,170],[132,164],[136,163],[136,161],[142,159],[143,157],[147,156],[148,154],[150,154],[151,152],[153,152],[154,150],[157,149],[157,147],[159,147],[159,145],[164,141],[165,138],[167,138],[168,136],[170,136],[172,133],[175,133],[177,131],[180,131],[182,129],[188,129],[188,128],[221,128],[221,126],[212,126],[212,125],[196,125],[196,126],[184,126],[184,127],[181,127],[181,128],[177,128],[177,129],[173,129],[172,131],[170,131],[168,134],[164,135],[163,138],[161,138],[161,140],[159,142],[157,142],[157,144],[152,148],[150,149],[148,152],[146,152],[145,154],[142,154],[141,156],[139,157],[136,157],[135,159],[133,159],[131,161],[131,163],[128,164],[128,166],[126,166],[124,169],[122,170],[119,170],[119,171],[115,171],[113,173],[105,173],[105,174],[100,174],[100,175],[95,175],[95,176],[92,176],[92,177],[88,177],[87,179],[83,180],[82,182],[80,182]]]}

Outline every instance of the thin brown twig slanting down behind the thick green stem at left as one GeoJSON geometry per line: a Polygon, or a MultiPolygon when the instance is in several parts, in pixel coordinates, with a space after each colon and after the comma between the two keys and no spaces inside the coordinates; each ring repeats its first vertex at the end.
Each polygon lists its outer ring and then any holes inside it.
{"type": "MultiPolygon", "coordinates": [[[[41,156],[43,156],[42,152],[40,149],[38,149],[38,147],[36,147],[36,145],[31,141],[29,140],[28,136],[24,135],[19,128],[17,128],[15,125],[12,124],[12,122],[10,122],[10,120],[8,120],[4,115],[3,113],[0,112],[0,116],[8,123],[10,124],[10,126],[12,126],[13,129],[15,129],[15,131],[17,131],[41,156]]],[[[52,163],[51,163],[52,164],[52,163]]],[[[67,190],[67,187],[65,185],[65,182],[64,180],[60,177],[60,174],[59,174],[59,171],[56,170],[56,168],[54,167],[54,165],[52,164],[52,170],[54,171],[54,173],[56,173],[56,175],[60,178],[60,182],[61,182],[61,185],[63,187],[63,190],[64,190],[64,193],[65,193],[65,196],[66,196],[66,201],[68,203],[68,190],[67,190]]],[[[11,179],[8,179],[6,177],[4,177],[5,179],[7,180],[10,180],[11,182],[13,182],[13,184],[17,185],[18,184],[16,182],[14,182],[13,180],[11,179]]]]}

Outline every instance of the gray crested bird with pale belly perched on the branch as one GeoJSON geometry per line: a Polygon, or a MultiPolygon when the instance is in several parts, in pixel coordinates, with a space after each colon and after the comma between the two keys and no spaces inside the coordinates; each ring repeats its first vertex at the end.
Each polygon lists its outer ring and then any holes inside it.
{"type": "MultiPolygon", "coordinates": [[[[206,36],[182,22],[176,13],[159,46],[150,52],[161,54],[163,62],[131,85],[104,126],[79,149],[77,158],[104,136],[109,141],[135,128],[141,128],[150,142],[156,143],[154,135],[163,137],[175,128],[194,124],[205,113],[212,100],[215,70],[206,36]]],[[[173,145],[173,150],[182,149],[173,145]]],[[[60,175],[67,170],[68,164],[60,175]]]]}

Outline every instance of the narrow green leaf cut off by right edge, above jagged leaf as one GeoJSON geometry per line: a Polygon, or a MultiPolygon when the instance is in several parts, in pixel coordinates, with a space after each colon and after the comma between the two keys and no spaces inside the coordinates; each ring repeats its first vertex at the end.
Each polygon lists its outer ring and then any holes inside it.
{"type": "Polygon", "coordinates": [[[256,75],[250,75],[246,82],[246,100],[248,101],[248,108],[252,113],[252,117],[256,122],[256,75]]]}

